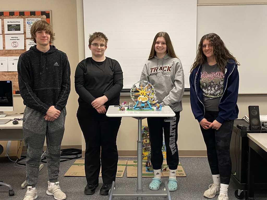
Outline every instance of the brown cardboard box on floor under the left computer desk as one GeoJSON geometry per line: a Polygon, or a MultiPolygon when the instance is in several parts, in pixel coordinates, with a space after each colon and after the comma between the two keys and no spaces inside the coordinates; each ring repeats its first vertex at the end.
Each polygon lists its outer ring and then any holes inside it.
{"type": "Polygon", "coordinates": [[[0,145],[3,146],[4,151],[0,157],[7,157],[11,159],[20,159],[23,146],[22,140],[0,141],[0,145]],[[7,151],[6,151],[7,150],[7,151]]]}

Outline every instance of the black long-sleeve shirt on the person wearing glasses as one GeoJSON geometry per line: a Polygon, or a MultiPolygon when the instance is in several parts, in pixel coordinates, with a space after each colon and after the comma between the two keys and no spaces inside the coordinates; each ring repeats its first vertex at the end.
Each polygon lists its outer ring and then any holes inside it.
{"type": "MultiPolygon", "coordinates": [[[[120,105],[122,88],[123,72],[116,60],[106,57],[103,62],[96,62],[89,57],[78,63],[75,71],[75,90],[79,95],[79,106],[87,111],[87,116],[98,116],[99,113],[91,103],[103,95],[108,98],[104,104],[106,109],[110,105],[120,105]]],[[[103,116],[99,114],[101,115],[103,116]]]]}

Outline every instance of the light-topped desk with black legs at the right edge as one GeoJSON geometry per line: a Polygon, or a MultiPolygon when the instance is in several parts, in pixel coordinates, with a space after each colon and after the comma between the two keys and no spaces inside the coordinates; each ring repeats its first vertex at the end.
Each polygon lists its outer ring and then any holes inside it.
{"type": "Polygon", "coordinates": [[[248,191],[246,199],[254,199],[254,173],[256,153],[267,161],[267,133],[248,133],[249,160],[248,160],[248,191]]]}

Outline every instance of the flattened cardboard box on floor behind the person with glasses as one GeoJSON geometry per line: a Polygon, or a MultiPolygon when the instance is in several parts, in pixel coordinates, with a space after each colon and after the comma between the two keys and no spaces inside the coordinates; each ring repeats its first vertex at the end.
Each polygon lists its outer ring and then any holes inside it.
{"type": "MultiPolygon", "coordinates": [[[[127,160],[118,161],[116,177],[123,177],[126,165],[127,165],[127,160]]],[[[70,168],[64,174],[64,176],[81,176],[81,177],[84,176],[85,177],[84,160],[76,160],[72,164],[72,166],[70,166],[70,168]]],[[[101,177],[101,168],[100,168],[99,177],[101,177]]]]}

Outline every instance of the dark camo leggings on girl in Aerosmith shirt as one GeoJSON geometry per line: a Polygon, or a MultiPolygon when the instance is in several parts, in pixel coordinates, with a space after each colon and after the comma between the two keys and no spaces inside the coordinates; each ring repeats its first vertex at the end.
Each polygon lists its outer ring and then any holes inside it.
{"type": "MultiPolygon", "coordinates": [[[[204,118],[213,122],[217,117],[216,111],[206,111],[204,118]]],[[[222,126],[216,129],[203,129],[200,126],[206,147],[211,174],[220,174],[221,183],[229,185],[232,162],[230,158],[230,141],[234,120],[224,121],[222,126]]]]}

